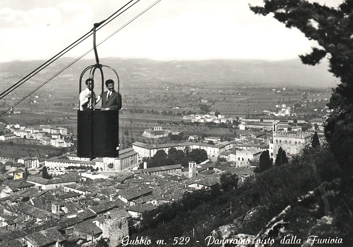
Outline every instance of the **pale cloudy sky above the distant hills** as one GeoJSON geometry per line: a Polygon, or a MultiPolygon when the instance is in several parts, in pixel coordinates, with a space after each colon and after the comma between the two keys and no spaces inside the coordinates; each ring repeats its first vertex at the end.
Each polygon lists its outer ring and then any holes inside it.
{"type": "MultiPolygon", "coordinates": [[[[97,32],[97,43],[156,0],[141,0],[97,32]]],[[[314,2],[310,0],[309,2],[314,2]]],[[[342,0],[316,0],[337,7],[342,0]]],[[[128,0],[1,0],[0,62],[49,59],[128,0]]],[[[249,9],[262,0],[161,0],[98,47],[103,57],[154,60],[298,58],[318,46],[299,30],[249,9]]],[[[92,48],[92,37],[65,56],[92,48]]],[[[90,52],[85,58],[94,57],[90,52]]]]}

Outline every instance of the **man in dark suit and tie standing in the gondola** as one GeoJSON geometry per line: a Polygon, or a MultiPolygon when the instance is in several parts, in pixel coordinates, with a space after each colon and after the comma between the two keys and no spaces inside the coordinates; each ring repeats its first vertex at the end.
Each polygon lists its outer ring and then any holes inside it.
{"type": "Polygon", "coordinates": [[[122,108],[122,96],[114,91],[114,81],[106,80],[105,86],[108,91],[102,94],[102,110],[120,110],[122,108]]]}

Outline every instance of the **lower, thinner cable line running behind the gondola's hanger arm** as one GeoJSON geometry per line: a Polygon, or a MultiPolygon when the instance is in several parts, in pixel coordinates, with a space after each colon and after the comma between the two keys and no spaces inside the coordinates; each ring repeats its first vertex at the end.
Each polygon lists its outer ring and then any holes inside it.
{"type": "MultiPolygon", "coordinates": [[[[132,23],[134,20],[136,20],[138,17],[140,17],[142,14],[144,14],[145,12],[147,12],[149,9],[151,9],[153,6],[155,6],[156,4],[158,4],[160,1],[162,0],[157,0],[156,2],[154,2],[152,5],[150,5],[149,7],[147,7],[145,10],[143,10],[142,12],[140,12],[140,14],[136,15],[134,18],[132,18],[130,21],[128,21],[127,23],[125,23],[123,26],[121,26],[119,29],[115,30],[113,33],[111,33],[109,36],[107,36],[105,39],[103,39],[102,41],[100,41],[96,46],[99,46],[100,44],[102,44],[103,42],[105,42],[107,39],[109,39],[111,36],[113,36],[114,34],[116,34],[117,32],[119,32],[120,30],[122,30],[123,28],[125,28],[127,25],[129,25],[130,23],[132,23]]],[[[39,85],[37,88],[35,88],[34,90],[32,90],[30,93],[28,93],[26,96],[24,96],[22,99],[20,99],[19,101],[17,101],[15,104],[13,104],[10,108],[6,109],[3,113],[0,114],[0,116],[4,115],[6,112],[8,112],[9,110],[12,109],[12,107],[18,105],[19,103],[21,103],[23,100],[25,100],[26,98],[28,98],[31,94],[33,94],[34,92],[36,92],[38,89],[40,89],[41,87],[43,87],[45,84],[47,84],[48,82],[50,82],[52,79],[54,79],[57,75],[61,74],[63,71],[65,71],[66,69],[68,69],[70,66],[72,66],[73,64],[75,64],[78,60],[80,60],[82,57],[84,57],[85,55],[87,55],[89,52],[91,52],[94,48],[89,49],[88,51],[86,51],[85,53],[83,53],[81,56],[79,56],[78,58],[76,58],[74,61],[72,61],[69,65],[67,65],[66,67],[64,67],[63,69],[61,69],[60,71],[58,71],[57,73],[55,73],[55,75],[51,76],[48,80],[46,80],[45,82],[43,82],[41,85],[39,85]]]]}

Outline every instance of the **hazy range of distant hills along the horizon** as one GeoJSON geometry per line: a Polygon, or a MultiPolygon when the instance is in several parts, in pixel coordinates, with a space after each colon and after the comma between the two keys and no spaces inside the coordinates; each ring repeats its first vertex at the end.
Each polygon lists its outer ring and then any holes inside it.
{"type": "MultiPolygon", "coordinates": [[[[58,59],[40,73],[41,80],[39,81],[49,78],[49,75],[63,69],[72,60],[74,58],[58,59]]],[[[10,83],[11,79],[14,83],[42,63],[44,63],[44,60],[15,60],[10,63],[0,63],[0,79],[6,77],[5,82],[10,83]]],[[[323,61],[318,66],[308,66],[303,65],[300,59],[282,61],[231,59],[156,61],[108,57],[101,58],[100,63],[115,69],[121,81],[127,83],[171,82],[203,85],[205,82],[217,82],[234,85],[259,84],[305,87],[335,87],[339,83],[339,80],[327,71],[327,61],[323,61]]],[[[67,86],[72,86],[73,81],[79,79],[83,69],[93,64],[95,64],[94,59],[81,59],[61,76],[72,76],[71,82],[67,83],[67,86]]],[[[36,80],[34,79],[34,81],[36,80]]]]}

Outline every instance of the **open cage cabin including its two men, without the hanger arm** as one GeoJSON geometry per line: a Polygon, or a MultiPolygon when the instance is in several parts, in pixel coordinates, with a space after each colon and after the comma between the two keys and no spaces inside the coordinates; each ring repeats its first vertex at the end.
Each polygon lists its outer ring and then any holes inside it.
{"type": "MultiPolygon", "coordinates": [[[[97,157],[118,157],[119,156],[119,109],[121,109],[121,95],[119,93],[120,82],[117,77],[117,92],[114,91],[114,84],[111,87],[112,80],[106,81],[106,86],[109,90],[104,91],[104,79],[102,72],[102,65],[94,65],[86,68],[80,77],[80,110],[77,111],[77,156],[86,158],[97,157]],[[92,72],[93,68],[93,72],[92,72]],[[99,68],[101,71],[101,89],[100,96],[95,95],[94,88],[94,70],[99,68]],[[81,91],[81,82],[84,73],[91,69],[91,77],[86,80],[86,89],[81,91]],[[110,85],[109,85],[110,84],[110,85]],[[109,98],[111,97],[111,98],[109,98]],[[99,99],[100,98],[100,99],[99,99]],[[102,107],[94,108],[96,101],[100,100],[102,107]],[[109,102],[109,103],[108,103],[109,102]]],[[[100,102],[97,102],[100,104],[100,102]]]]}

